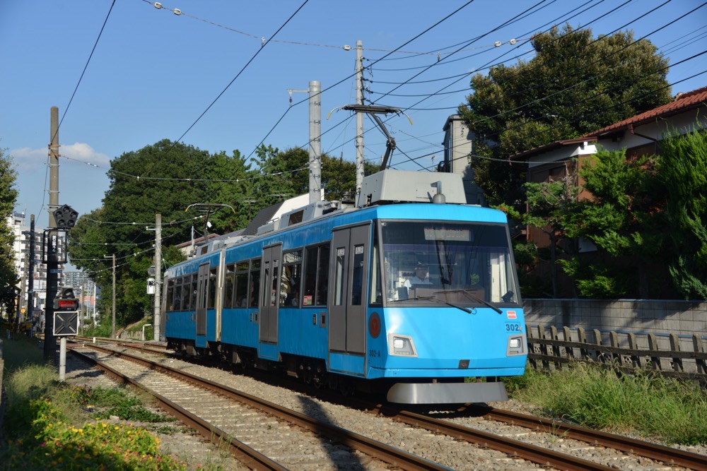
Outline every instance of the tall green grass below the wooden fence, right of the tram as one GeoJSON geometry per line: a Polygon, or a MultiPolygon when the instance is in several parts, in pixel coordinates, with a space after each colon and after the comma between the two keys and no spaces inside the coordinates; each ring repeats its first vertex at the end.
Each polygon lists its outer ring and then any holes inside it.
{"type": "Polygon", "coordinates": [[[542,407],[584,427],[636,431],[667,443],[707,443],[707,393],[697,382],[656,374],[617,375],[573,364],[569,369],[508,378],[510,397],[542,407]]]}

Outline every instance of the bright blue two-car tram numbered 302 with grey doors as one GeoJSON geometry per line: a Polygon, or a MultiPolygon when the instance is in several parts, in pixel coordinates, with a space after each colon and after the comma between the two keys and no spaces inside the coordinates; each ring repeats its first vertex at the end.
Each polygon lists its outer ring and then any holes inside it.
{"type": "Polygon", "coordinates": [[[455,174],[385,170],[166,270],[168,345],[395,403],[507,399],[527,340],[506,215],[455,174]],[[485,379],[486,381],[481,381],[485,379]]]}

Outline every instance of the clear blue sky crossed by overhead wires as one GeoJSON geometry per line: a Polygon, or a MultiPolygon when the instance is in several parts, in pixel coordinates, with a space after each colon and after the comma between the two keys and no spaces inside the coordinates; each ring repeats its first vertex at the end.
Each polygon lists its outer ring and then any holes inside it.
{"type": "MultiPolygon", "coordinates": [[[[313,80],[325,90],[322,150],[354,160],[355,119],[346,111],[326,117],[355,102],[353,48],[361,40],[364,65],[385,57],[366,73],[368,97],[378,105],[409,108],[414,123],[402,116],[386,121],[399,148],[392,165],[421,168],[406,162],[404,153],[427,155],[418,162],[432,167],[443,155],[445,119],[470,91],[469,73],[486,74],[484,67],[498,62],[514,64],[520,54],[531,59],[527,40],[533,32],[546,29],[548,22],[562,24],[590,6],[568,23],[578,28],[600,18],[590,24],[598,35],[664,3],[310,0],[293,16],[302,1],[163,0],[163,8],[156,8],[146,0],[4,0],[0,148],[13,156],[18,171],[16,210],[37,215],[40,227],[47,224],[52,106],[59,107],[63,119],[59,203],[81,214],[100,207],[112,158],[164,138],[183,135],[183,142],[197,148],[229,154],[238,149],[243,155],[251,155],[264,138],[281,150],[306,145],[307,94],[293,93],[295,106],[289,108],[287,89],[306,89],[313,80]],[[498,28],[535,4],[515,23],[498,28]],[[182,14],[176,15],[175,8],[182,14]]],[[[677,19],[699,5],[673,0],[628,28],[638,38],[665,26],[648,39],[674,64],[707,49],[707,6],[677,19]]],[[[706,64],[701,56],[672,67],[668,80],[677,83],[672,93],[707,85],[707,73],[689,78],[705,71],[706,64]]],[[[385,139],[368,119],[364,122],[366,159],[378,162],[385,139]]],[[[185,207],[190,203],[185,201],[185,207]]]]}

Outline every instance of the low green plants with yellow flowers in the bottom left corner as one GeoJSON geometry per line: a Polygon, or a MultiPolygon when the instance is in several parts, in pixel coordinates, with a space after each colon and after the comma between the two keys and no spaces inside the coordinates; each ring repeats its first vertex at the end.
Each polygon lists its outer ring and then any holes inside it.
{"type": "MultiPolygon", "coordinates": [[[[14,342],[6,342],[14,343],[14,342]]],[[[52,366],[24,364],[5,377],[0,470],[184,470],[160,439],[122,421],[170,422],[124,388],[59,383],[52,366]]],[[[163,427],[163,426],[162,426],[163,427]]]]}

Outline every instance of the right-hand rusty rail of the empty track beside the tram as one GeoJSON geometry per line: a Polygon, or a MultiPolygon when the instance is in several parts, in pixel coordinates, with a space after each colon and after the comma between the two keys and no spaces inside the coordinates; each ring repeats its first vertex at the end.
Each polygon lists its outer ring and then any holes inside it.
{"type": "Polygon", "coordinates": [[[381,443],[380,441],[375,441],[361,434],[356,434],[356,432],[354,431],[342,429],[341,427],[321,422],[320,420],[317,420],[313,417],[308,417],[307,415],[301,414],[300,412],[296,412],[294,410],[287,409],[286,407],[270,403],[267,400],[263,400],[255,397],[254,395],[244,393],[243,391],[239,391],[234,388],[215,383],[214,381],[210,381],[206,378],[201,378],[199,376],[189,374],[185,371],[180,371],[178,369],[170,368],[169,366],[160,365],[148,359],[135,357],[134,355],[127,354],[124,352],[116,352],[115,350],[110,350],[104,347],[100,347],[98,345],[86,345],[86,347],[92,348],[94,350],[100,350],[101,352],[111,354],[115,357],[125,357],[126,359],[129,359],[132,362],[147,366],[148,368],[153,369],[153,371],[159,371],[164,374],[169,374],[170,376],[181,378],[182,380],[194,383],[197,386],[201,386],[209,390],[214,390],[215,392],[225,395],[228,398],[238,400],[241,403],[245,403],[247,405],[250,405],[251,407],[263,410],[264,412],[274,415],[275,417],[281,417],[287,422],[296,424],[299,427],[302,427],[303,429],[306,429],[308,431],[315,432],[316,434],[322,436],[327,436],[327,438],[334,438],[335,440],[339,441],[339,443],[342,443],[346,446],[349,446],[350,448],[354,448],[355,450],[366,453],[367,455],[370,455],[374,458],[378,458],[379,460],[385,461],[385,463],[389,463],[390,465],[400,467],[403,470],[450,470],[449,467],[434,463],[430,460],[426,460],[425,458],[421,458],[420,456],[407,453],[407,451],[403,451],[399,448],[386,445],[385,443],[381,443]]]}

